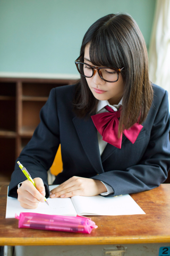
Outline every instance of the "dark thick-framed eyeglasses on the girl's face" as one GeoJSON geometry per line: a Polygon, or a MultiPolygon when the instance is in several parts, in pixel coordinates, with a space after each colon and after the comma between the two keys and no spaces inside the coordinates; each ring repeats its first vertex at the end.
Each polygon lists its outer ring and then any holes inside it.
{"type": "Polygon", "coordinates": [[[109,83],[115,83],[118,81],[119,74],[123,69],[123,68],[116,69],[116,68],[107,68],[107,67],[98,68],[98,67],[91,66],[87,63],[81,62],[79,61],[79,59],[80,57],[77,60],[75,60],[75,65],[77,66],[79,73],[82,76],[87,78],[92,77],[94,75],[94,69],[96,69],[101,79],[109,83]]]}

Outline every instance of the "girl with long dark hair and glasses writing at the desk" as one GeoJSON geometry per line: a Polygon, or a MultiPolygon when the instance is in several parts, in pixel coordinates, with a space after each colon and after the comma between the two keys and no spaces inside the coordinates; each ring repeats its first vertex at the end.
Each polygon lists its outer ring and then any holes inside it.
{"type": "Polygon", "coordinates": [[[44,196],[137,193],[160,185],[170,168],[167,92],[149,81],[145,40],[128,14],[109,14],[84,35],[75,85],[50,92],[40,124],[20,161],[8,195],[35,208],[44,196]],[[63,172],[49,191],[47,171],[61,144],[63,172]],[[19,184],[22,183],[22,186],[19,184]],[[19,188],[18,188],[19,187],[19,188]]]}

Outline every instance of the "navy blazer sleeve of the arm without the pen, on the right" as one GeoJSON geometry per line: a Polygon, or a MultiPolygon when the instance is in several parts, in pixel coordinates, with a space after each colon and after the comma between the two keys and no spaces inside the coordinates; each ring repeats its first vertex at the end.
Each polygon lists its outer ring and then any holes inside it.
{"type": "Polygon", "coordinates": [[[169,127],[168,93],[165,92],[140,162],[126,170],[107,171],[92,178],[113,188],[114,193],[109,196],[138,193],[159,186],[170,169],[169,127]]]}

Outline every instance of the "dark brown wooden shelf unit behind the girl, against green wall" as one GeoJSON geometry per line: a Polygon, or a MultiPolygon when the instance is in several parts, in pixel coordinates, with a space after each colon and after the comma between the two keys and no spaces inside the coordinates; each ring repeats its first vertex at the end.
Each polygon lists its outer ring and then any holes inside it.
{"type": "Polygon", "coordinates": [[[40,122],[39,111],[54,87],[75,79],[0,77],[0,182],[9,182],[15,159],[40,122]]]}

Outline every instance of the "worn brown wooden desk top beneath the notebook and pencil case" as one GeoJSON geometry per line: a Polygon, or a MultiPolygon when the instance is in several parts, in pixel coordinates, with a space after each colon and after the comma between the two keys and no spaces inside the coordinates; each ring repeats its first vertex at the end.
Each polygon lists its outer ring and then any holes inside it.
{"type": "Polygon", "coordinates": [[[0,191],[0,245],[86,245],[170,242],[170,184],[132,194],[145,215],[92,216],[91,234],[18,228],[5,219],[7,186],[0,191]]]}

